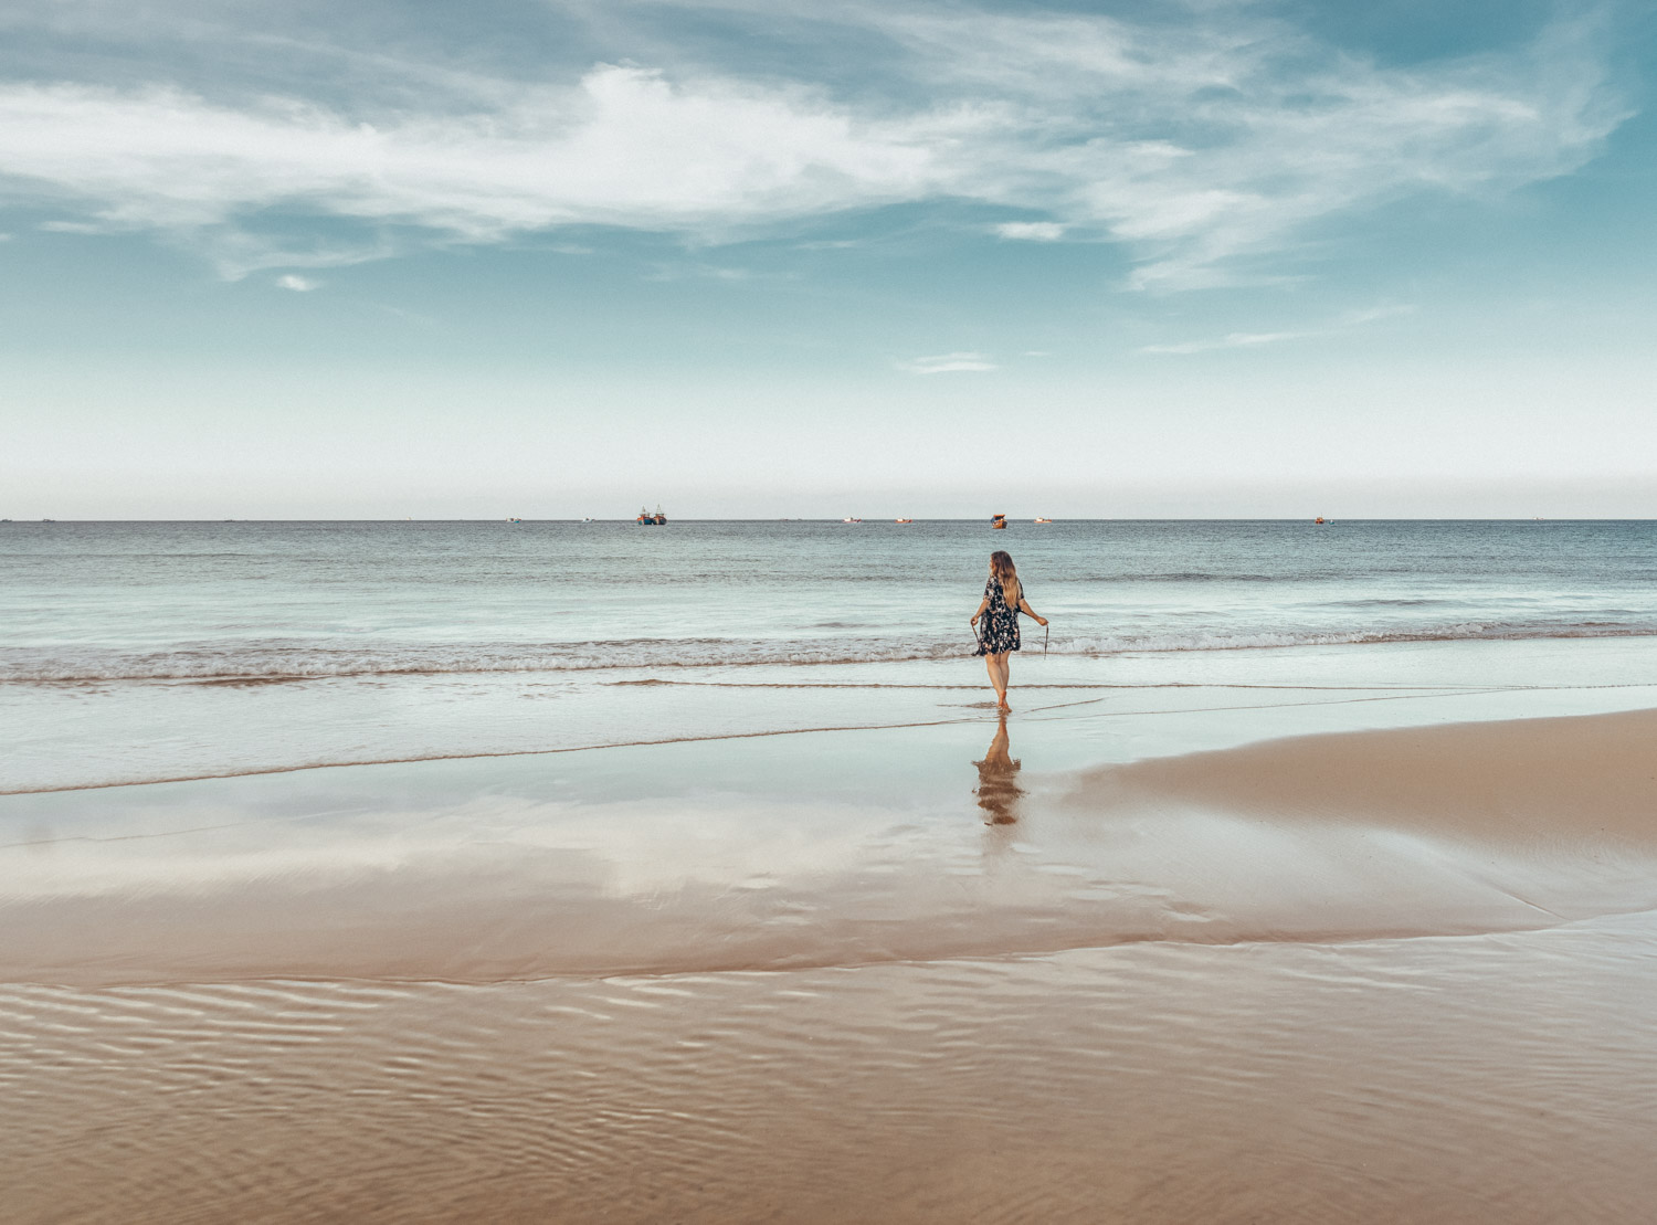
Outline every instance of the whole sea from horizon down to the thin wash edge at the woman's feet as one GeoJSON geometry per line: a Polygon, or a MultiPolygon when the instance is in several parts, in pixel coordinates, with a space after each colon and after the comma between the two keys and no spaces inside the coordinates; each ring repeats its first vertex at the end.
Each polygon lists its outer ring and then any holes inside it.
{"type": "Polygon", "coordinates": [[[928,721],[993,549],[1016,686],[1657,680],[1654,522],[0,524],[0,791],[928,721]]]}

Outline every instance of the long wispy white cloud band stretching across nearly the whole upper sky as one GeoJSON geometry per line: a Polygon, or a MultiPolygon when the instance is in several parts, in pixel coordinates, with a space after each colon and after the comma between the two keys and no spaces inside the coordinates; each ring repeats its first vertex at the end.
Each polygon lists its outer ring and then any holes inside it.
{"type": "Polygon", "coordinates": [[[1629,114],[1586,23],[1405,70],[1249,5],[1135,23],[852,3],[812,10],[820,55],[787,81],[742,68],[741,33],[691,61],[648,28],[659,7],[563,7],[608,31],[611,61],[535,80],[363,55],[326,98],[300,63],[257,94],[159,60],[151,85],[0,83],[3,194],[199,244],[227,275],[563,225],[721,242],[948,199],[1037,214],[1004,239],[1118,242],[1137,285],[1191,287],[1342,211],[1566,174],[1629,114]],[[848,88],[832,48],[870,40],[886,78],[848,88]],[[305,217],[363,234],[297,242],[305,217]]]}

